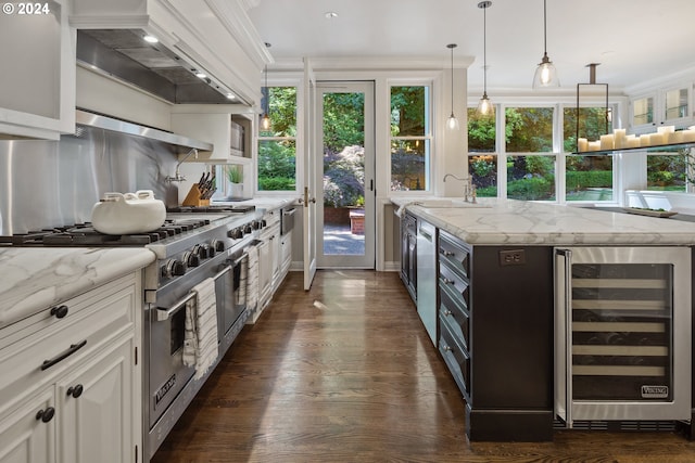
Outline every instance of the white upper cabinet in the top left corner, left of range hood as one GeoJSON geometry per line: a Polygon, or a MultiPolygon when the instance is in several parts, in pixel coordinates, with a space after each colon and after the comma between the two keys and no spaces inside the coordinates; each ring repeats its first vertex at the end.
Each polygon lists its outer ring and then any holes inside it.
{"type": "Polygon", "coordinates": [[[0,16],[0,139],[75,131],[75,31],[68,1],[4,3],[0,16]]]}

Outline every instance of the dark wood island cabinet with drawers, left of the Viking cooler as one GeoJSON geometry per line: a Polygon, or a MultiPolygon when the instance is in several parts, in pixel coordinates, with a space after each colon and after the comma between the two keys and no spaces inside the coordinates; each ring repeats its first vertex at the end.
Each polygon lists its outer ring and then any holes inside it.
{"type": "Polygon", "coordinates": [[[470,246],[440,230],[439,350],[470,440],[553,439],[553,248],[470,246]]]}

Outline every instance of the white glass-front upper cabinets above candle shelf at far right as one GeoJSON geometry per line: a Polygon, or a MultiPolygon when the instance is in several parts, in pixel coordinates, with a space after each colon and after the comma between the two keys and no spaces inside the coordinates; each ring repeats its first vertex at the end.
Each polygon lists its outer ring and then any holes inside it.
{"type": "Polygon", "coordinates": [[[694,124],[693,83],[686,82],[630,99],[630,131],[646,133],[660,126],[684,128],[694,124]]]}

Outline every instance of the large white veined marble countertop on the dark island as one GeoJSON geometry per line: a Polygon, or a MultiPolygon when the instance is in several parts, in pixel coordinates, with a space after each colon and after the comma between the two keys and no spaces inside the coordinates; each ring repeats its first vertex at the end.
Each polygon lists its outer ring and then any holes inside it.
{"type": "MultiPolygon", "coordinates": [[[[415,216],[478,245],[693,245],[695,223],[555,204],[479,197],[477,204],[435,206],[452,198],[392,198],[415,216]]],[[[453,198],[455,200],[455,198],[453,198]]]]}

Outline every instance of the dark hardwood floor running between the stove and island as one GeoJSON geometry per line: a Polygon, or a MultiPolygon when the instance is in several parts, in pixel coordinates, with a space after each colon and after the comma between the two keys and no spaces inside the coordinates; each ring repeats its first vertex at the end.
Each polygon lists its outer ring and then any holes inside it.
{"type": "Polygon", "coordinates": [[[152,462],[695,462],[670,433],[470,443],[464,407],[395,272],[290,273],[152,462]]]}

